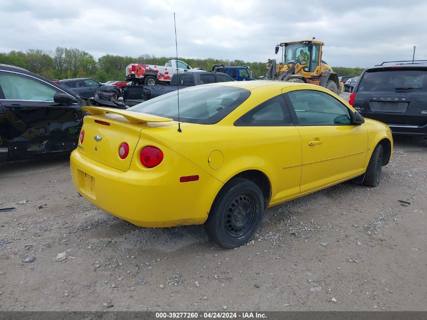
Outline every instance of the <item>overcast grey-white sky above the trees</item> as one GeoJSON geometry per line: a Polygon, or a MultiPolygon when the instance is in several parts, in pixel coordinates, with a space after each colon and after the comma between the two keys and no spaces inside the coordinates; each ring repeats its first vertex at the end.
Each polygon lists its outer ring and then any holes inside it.
{"type": "MultiPolygon", "coordinates": [[[[427,59],[425,0],[0,0],[0,52],[56,47],[138,57],[267,61],[279,42],[324,42],[331,66],[427,59]]],[[[197,67],[197,66],[194,66],[197,67]]]]}

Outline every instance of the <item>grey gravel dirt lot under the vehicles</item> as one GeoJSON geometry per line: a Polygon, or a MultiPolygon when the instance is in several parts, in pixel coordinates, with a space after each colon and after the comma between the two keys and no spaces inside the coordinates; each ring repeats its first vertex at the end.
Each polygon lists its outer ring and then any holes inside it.
{"type": "Polygon", "coordinates": [[[0,181],[0,207],[17,208],[0,212],[1,310],[427,310],[427,140],[395,138],[377,188],[267,210],[234,250],[203,226],[140,228],[94,207],[66,157],[3,165],[0,181]]]}

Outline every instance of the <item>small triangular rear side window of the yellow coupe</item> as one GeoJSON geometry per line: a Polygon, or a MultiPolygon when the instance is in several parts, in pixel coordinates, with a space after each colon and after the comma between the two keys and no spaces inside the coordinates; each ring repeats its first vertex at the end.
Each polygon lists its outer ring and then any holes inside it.
{"type": "Polygon", "coordinates": [[[238,126],[278,126],[292,124],[292,119],[283,97],[280,95],[255,107],[234,124],[238,126]]]}

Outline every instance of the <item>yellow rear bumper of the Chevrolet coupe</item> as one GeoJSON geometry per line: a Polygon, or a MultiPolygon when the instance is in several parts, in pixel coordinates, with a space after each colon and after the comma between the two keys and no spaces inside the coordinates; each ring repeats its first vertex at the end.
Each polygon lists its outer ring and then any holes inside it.
{"type": "Polygon", "coordinates": [[[74,150],[70,157],[74,188],[101,209],[138,226],[202,224],[222,182],[177,155],[167,170],[120,171],[74,150]],[[179,182],[179,175],[199,181],[179,182]]]}

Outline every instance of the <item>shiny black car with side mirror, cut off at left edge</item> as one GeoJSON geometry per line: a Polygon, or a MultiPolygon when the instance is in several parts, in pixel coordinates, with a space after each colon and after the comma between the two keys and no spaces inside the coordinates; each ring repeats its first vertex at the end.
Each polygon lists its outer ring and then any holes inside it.
{"type": "Polygon", "coordinates": [[[86,104],[49,79],[0,64],[0,163],[75,149],[86,104]]]}

